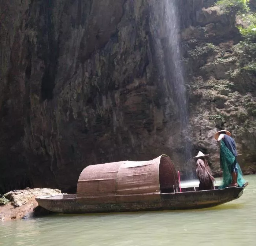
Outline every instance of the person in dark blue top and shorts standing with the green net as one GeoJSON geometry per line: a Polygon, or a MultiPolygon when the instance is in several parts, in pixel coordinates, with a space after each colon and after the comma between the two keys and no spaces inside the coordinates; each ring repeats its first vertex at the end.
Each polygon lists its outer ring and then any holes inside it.
{"type": "MultiPolygon", "coordinates": [[[[237,148],[235,146],[235,141],[231,137],[231,133],[227,130],[221,130],[214,134],[214,138],[220,143],[222,140],[225,143],[225,146],[229,151],[233,154],[234,162],[230,164],[230,171],[231,171],[231,177],[232,182],[229,184],[229,186],[238,186],[237,183],[237,177],[238,177],[238,168],[237,168],[237,148]]],[[[225,158],[223,156],[224,153],[220,151],[220,168],[223,169],[222,160],[225,158]]]]}

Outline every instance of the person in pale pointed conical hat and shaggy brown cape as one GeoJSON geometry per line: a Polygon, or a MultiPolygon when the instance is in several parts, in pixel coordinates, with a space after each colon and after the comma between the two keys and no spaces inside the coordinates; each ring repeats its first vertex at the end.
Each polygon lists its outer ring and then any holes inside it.
{"type": "Polygon", "coordinates": [[[199,179],[199,190],[214,190],[214,177],[210,173],[210,167],[205,157],[209,156],[201,151],[193,158],[196,162],[196,175],[199,179]]]}

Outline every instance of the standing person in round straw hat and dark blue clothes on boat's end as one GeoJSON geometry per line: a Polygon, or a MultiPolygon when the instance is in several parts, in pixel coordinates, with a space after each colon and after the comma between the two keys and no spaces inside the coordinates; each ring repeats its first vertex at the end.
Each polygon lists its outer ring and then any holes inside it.
{"type": "Polygon", "coordinates": [[[237,149],[235,146],[235,141],[231,138],[231,133],[226,130],[221,130],[215,133],[214,138],[220,144],[221,141],[225,144],[227,149],[232,153],[230,157],[230,152],[225,151],[223,146],[220,145],[220,168],[225,168],[223,163],[227,163],[227,168],[229,169],[232,177],[232,182],[228,185],[230,186],[238,186],[237,178],[238,178],[238,168],[237,168],[237,149]],[[232,156],[233,155],[233,156],[232,156]],[[232,158],[233,157],[233,158],[232,158]]]}

